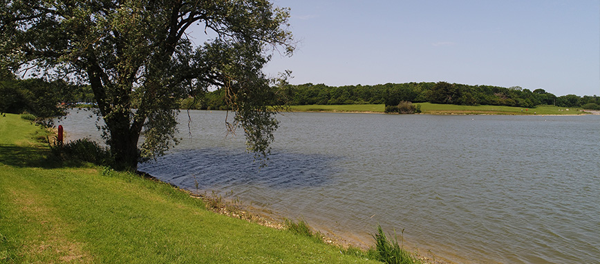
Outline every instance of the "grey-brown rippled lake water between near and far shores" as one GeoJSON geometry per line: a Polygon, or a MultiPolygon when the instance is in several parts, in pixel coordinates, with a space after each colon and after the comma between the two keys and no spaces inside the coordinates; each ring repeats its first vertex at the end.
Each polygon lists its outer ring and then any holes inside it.
{"type": "MultiPolygon", "coordinates": [[[[99,134],[88,113],[71,139],[99,134]]],[[[182,112],[182,142],[139,169],[372,245],[457,263],[599,263],[600,116],[288,113],[268,167],[225,112],[182,112]]]]}

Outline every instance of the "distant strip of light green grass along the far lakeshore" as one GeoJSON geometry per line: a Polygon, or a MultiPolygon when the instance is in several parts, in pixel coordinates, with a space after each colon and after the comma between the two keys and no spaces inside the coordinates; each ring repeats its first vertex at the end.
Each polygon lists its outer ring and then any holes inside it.
{"type": "MultiPolygon", "coordinates": [[[[442,105],[418,103],[422,114],[583,114],[579,109],[539,105],[536,108],[516,108],[499,105],[442,105]],[[567,110],[568,109],[568,110],[567,110]]],[[[292,112],[375,112],[382,113],[385,105],[292,105],[292,112]]]]}

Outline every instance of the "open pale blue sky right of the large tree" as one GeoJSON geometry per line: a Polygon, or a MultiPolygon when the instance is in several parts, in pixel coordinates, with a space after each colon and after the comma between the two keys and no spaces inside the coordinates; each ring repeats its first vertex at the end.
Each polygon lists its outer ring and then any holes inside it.
{"type": "Polygon", "coordinates": [[[600,96],[600,1],[274,0],[291,8],[292,84],[448,81],[600,96]]]}

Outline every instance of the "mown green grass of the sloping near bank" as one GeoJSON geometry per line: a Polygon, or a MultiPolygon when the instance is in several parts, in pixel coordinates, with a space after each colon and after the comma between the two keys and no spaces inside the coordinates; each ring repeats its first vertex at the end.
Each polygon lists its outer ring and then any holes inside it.
{"type": "Polygon", "coordinates": [[[370,263],[215,214],[165,183],[66,165],[32,139],[40,131],[0,117],[0,263],[370,263]]]}

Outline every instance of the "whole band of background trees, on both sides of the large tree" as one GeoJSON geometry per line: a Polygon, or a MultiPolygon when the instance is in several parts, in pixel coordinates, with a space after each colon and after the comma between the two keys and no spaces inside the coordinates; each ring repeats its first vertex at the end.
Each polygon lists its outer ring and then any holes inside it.
{"type": "MultiPolygon", "coordinates": [[[[0,78],[0,112],[29,112],[39,117],[64,114],[59,105],[94,103],[88,85],[70,85],[62,81],[0,78]]],[[[535,108],[536,105],[556,105],[564,108],[600,110],[600,97],[579,97],[567,94],[556,97],[543,89],[529,90],[514,86],[466,85],[447,82],[386,83],[377,85],[328,86],[323,83],[283,85],[277,93],[268,94],[273,104],[287,105],[348,105],[384,104],[386,112],[418,112],[413,103],[454,105],[507,105],[535,108]],[[390,108],[391,107],[391,108],[390,108]]],[[[197,97],[180,98],[180,108],[197,110],[230,110],[225,90],[206,92],[197,97]]]]}

